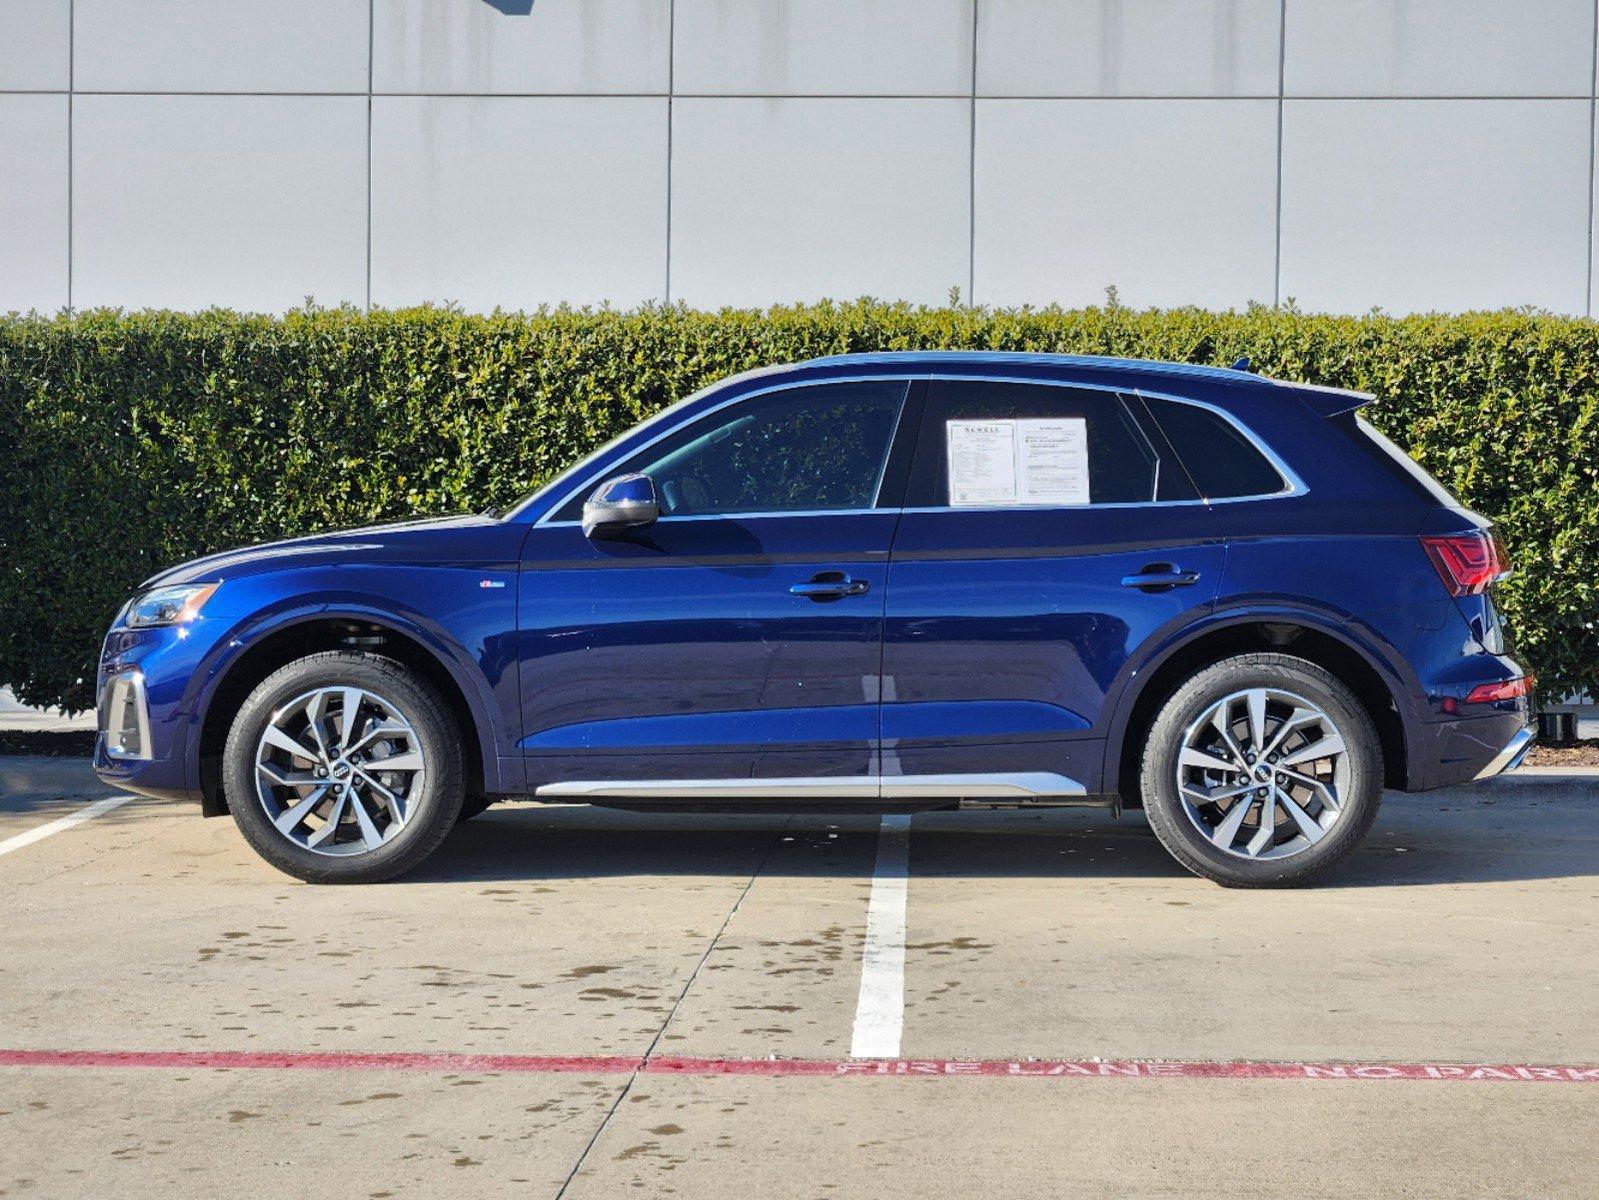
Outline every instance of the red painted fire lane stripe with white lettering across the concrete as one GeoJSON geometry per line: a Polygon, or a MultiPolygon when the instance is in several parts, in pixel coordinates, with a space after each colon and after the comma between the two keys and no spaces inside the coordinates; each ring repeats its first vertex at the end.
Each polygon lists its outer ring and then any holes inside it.
{"type": "Polygon", "coordinates": [[[1012,1078],[1209,1078],[1209,1080],[1417,1080],[1500,1083],[1599,1083],[1599,1066],[1485,1062],[1138,1062],[1062,1059],[750,1059],[261,1053],[238,1050],[0,1050],[0,1067],[146,1067],[240,1070],[422,1070],[432,1074],[628,1075],[825,1075],[1012,1078]]]}

